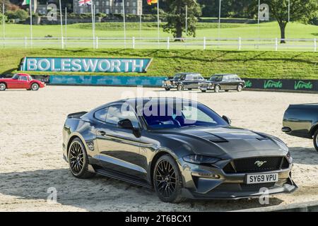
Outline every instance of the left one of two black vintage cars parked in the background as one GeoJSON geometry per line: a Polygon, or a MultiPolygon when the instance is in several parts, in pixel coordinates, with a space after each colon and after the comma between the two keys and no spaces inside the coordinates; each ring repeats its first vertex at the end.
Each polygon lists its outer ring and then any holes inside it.
{"type": "Polygon", "coordinates": [[[163,81],[163,88],[170,90],[177,88],[177,90],[197,89],[199,83],[206,81],[199,73],[177,73],[172,79],[163,81]]]}

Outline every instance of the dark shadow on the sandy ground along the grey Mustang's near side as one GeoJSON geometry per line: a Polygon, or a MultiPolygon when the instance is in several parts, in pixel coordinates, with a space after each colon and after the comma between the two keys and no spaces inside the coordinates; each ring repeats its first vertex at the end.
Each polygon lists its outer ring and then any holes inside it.
{"type": "MultiPolygon", "coordinates": [[[[19,199],[19,202],[26,199],[45,203],[49,197],[48,189],[50,188],[57,191],[57,203],[88,211],[149,211],[160,209],[171,211],[223,211],[262,207],[258,198],[237,201],[163,203],[152,189],[101,176],[92,179],[77,179],[71,175],[69,169],[37,169],[34,171],[0,173],[0,193],[8,196],[6,205],[10,205],[11,198],[19,199]]],[[[282,201],[279,198],[270,198],[269,203],[273,206],[282,203],[282,201]]],[[[47,205],[49,204],[47,203],[47,205]]]]}

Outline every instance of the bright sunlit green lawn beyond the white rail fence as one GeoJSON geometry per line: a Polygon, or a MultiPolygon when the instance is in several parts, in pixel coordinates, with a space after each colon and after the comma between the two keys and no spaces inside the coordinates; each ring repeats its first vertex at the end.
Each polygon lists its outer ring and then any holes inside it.
{"type": "MultiPolygon", "coordinates": [[[[164,23],[162,23],[163,25],[164,23]]],[[[91,37],[91,24],[67,25],[68,37],[91,37]]],[[[2,29],[0,29],[2,37],[2,29]]],[[[59,25],[33,25],[33,37],[61,36],[59,25]]],[[[98,37],[123,37],[122,23],[96,23],[96,35],[98,37]]],[[[280,37],[277,22],[257,24],[222,23],[218,33],[218,23],[197,23],[196,37],[280,37]]],[[[126,23],[127,37],[157,37],[156,23],[143,23],[139,32],[139,23],[126,23]]],[[[172,37],[171,34],[160,30],[160,37],[172,37]]],[[[6,24],[6,37],[30,37],[30,25],[6,24]]],[[[289,23],[286,28],[288,38],[314,38],[318,37],[318,26],[302,23],[289,23]]]]}

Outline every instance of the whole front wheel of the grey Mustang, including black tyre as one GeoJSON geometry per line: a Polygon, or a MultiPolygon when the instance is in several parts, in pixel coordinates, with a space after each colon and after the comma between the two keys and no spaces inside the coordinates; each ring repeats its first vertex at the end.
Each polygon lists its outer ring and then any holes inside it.
{"type": "Polygon", "coordinates": [[[181,196],[181,172],[177,163],[170,155],[161,156],[155,163],[153,186],[155,193],[165,203],[179,203],[185,200],[181,196]]]}

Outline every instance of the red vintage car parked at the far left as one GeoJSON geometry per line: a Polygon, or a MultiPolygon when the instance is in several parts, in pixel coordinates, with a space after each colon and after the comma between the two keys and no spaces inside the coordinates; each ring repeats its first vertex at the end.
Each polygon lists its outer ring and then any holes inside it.
{"type": "Polygon", "coordinates": [[[16,73],[12,78],[0,78],[0,91],[6,89],[38,90],[45,83],[33,79],[28,73],[16,73]]]}

